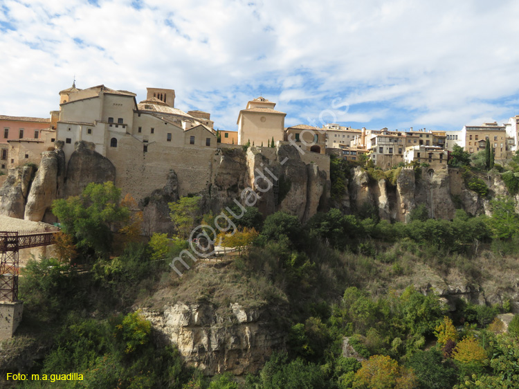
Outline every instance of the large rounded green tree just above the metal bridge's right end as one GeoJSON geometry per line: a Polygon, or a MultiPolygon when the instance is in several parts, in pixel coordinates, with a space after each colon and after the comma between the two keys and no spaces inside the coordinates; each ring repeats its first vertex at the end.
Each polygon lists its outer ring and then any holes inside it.
{"type": "Polygon", "coordinates": [[[113,240],[111,227],[130,220],[129,209],[119,202],[120,189],[112,182],[89,183],[80,196],[53,201],[53,213],[80,251],[107,257],[113,240]]]}

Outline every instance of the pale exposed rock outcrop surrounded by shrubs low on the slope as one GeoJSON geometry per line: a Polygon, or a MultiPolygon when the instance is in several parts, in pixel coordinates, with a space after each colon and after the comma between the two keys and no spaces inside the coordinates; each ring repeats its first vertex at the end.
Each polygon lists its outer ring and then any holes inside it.
{"type": "Polygon", "coordinates": [[[255,373],[275,351],[284,350],[284,334],[271,323],[267,309],[230,305],[228,316],[210,305],[177,303],[143,315],[184,361],[206,375],[255,373]]]}

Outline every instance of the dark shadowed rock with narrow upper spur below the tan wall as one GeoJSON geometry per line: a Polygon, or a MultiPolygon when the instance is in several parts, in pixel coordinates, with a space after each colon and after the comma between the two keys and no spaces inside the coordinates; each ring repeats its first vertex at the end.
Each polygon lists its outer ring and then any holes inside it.
{"type": "Polygon", "coordinates": [[[143,233],[171,233],[173,224],[170,219],[170,207],[172,203],[179,199],[179,179],[176,172],[170,170],[167,174],[165,185],[162,189],[156,189],[140,201],[140,208],[143,209],[143,233]]]}

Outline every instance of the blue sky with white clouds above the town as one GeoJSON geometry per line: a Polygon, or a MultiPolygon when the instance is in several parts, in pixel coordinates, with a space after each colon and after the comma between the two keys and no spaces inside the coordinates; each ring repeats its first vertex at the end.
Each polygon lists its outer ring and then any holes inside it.
{"type": "Polygon", "coordinates": [[[0,114],[59,91],[174,89],[237,130],[263,96],[285,125],[445,129],[519,114],[519,1],[0,0],[0,114]]]}

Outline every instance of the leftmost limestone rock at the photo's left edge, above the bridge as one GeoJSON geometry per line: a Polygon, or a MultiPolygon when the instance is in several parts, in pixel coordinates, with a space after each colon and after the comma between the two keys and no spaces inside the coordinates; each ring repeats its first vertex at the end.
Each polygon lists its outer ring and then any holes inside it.
{"type": "Polygon", "coordinates": [[[8,177],[0,188],[0,215],[24,219],[26,199],[35,172],[33,165],[9,170],[8,177]]]}

